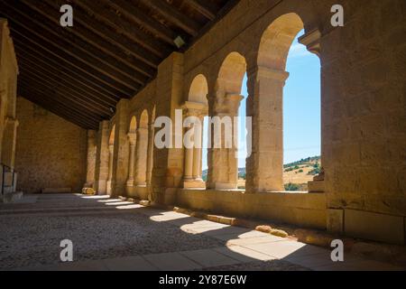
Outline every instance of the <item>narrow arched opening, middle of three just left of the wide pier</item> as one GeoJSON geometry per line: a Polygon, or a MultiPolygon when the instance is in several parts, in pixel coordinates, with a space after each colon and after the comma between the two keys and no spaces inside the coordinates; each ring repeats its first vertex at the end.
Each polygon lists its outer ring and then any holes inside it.
{"type": "Polygon", "coordinates": [[[147,166],[148,166],[148,111],[145,109],[140,117],[136,136],[136,154],[135,154],[135,176],[134,185],[136,192],[141,200],[146,200],[148,192],[147,184],[147,166]]]}

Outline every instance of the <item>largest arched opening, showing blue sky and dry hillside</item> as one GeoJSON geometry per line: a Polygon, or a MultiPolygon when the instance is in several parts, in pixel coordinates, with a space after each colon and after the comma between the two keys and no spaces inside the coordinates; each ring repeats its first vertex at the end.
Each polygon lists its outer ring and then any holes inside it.
{"type": "Polygon", "coordinates": [[[286,191],[309,191],[321,170],[320,60],[295,38],[283,89],[283,183],[286,191]]]}

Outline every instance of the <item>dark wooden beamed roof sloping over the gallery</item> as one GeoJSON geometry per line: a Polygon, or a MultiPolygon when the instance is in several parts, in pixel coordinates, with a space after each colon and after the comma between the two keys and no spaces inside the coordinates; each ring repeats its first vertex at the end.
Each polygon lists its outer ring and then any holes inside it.
{"type": "Polygon", "coordinates": [[[20,68],[19,95],[88,129],[114,115],[238,0],[0,0],[20,68]],[[60,6],[73,6],[73,27],[60,6]],[[186,42],[178,47],[178,37],[186,42]]]}

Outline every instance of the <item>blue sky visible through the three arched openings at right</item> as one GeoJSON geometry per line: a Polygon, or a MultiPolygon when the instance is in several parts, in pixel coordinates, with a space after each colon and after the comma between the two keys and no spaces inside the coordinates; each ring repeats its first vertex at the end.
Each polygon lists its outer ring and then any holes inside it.
{"type": "MultiPolygon", "coordinates": [[[[298,37],[302,35],[300,32],[298,37]]],[[[284,163],[291,163],[309,156],[320,155],[320,61],[318,57],[298,42],[298,37],[291,45],[286,70],[290,77],[283,91],[283,145],[284,163]]],[[[243,80],[239,116],[245,116],[246,76],[243,80]]],[[[245,127],[245,124],[240,124],[245,127]]],[[[207,135],[205,124],[205,136],[207,135]]],[[[242,130],[240,129],[240,132],[242,130]]],[[[240,145],[245,144],[244,135],[240,133],[240,145]]],[[[204,139],[204,144],[207,138],[204,139]]],[[[238,166],[245,167],[245,155],[241,153],[238,166]]],[[[207,150],[203,150],[203,170],[208,168],[207,150]]]]}

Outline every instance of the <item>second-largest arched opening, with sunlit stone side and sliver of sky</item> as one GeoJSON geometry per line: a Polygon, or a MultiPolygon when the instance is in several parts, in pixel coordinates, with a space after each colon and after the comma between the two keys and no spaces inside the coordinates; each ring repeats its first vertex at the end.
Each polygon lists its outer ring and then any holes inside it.
{"type": "MultiPolygon", "coordinates": [[[[216,96],[210,111],[208,187],[235,190],[238,187],[238,118],[246,61],[238,52],[228,54],[218,72],[216,96]]],[[[211,104],[210,104],[211,105],[211,104]]],[[[242,116],[245,117],[245,116],[242,116]]]]}

